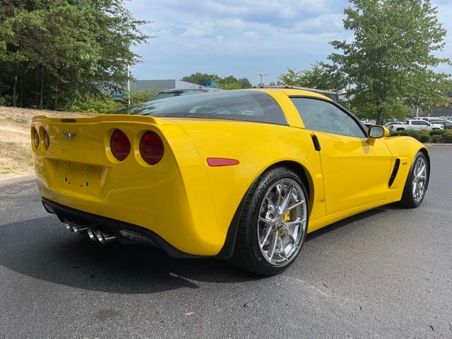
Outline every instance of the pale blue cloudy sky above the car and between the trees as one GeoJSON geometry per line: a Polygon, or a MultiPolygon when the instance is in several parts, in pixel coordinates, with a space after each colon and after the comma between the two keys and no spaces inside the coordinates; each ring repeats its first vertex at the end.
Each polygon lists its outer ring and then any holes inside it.
{"type": "MultiPolygon", "coordinates": [[[[439,20],[448,30],[438,55],[452,58],[452,1],[434,0],[439,20]]],[[[137,79],[180,79],[191,73],[249,78],[307,69],[326,61],[331,40],[352,36],[343,29],[346,0],[131,0],[127,8],[153,23],[141,30],[155,36],[133,47],[143,63],[131,69],[137,79]]],[[[452,73],[450,66],[439,71],[452,73]]]]}

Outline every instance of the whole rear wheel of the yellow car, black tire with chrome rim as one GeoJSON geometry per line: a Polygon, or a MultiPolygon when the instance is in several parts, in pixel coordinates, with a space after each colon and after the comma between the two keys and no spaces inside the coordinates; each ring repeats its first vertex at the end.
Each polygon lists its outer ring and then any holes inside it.
{"type": "Polygon", "coordinates": [[[308,213],[307,189],[295,172],[264,172],[245,198],[232,263],[262,275],[282,272],[302,249],[308,213]]]}

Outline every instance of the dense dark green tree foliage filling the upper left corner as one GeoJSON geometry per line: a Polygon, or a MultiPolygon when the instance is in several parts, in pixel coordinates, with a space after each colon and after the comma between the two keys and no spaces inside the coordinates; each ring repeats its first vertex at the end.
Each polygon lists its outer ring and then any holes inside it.
{"type": "Polygon", "coordinates": [[[149,37],[124,0],[4,0],[0,96],[11,105],[63,109],[118,90],[140,61],[131,45],[149,37]]]}

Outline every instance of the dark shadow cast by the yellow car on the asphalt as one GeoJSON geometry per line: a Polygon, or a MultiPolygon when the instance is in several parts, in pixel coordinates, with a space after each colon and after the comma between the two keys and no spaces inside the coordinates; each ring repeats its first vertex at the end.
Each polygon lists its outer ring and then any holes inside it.
{"type": "MultiPolygon", "coordinates": [[[[307,236],[307,241],[339,227],[383,213],[360,213],[307,236]]],[[[32,278],[85,290],[154,293],[199,283],[241,283],[260,277],[210,258],[180,259],[141,245],[93,242],[68,232],[54,215],[0,226],[0,265],[32,278]]]]}

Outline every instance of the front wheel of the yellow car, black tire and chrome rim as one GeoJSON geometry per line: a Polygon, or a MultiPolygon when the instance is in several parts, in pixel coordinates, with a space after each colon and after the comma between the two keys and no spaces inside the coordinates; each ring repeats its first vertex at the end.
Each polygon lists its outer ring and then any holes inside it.
{"type": "Polygon", "coordinates": [[[429,163],[424,153],[418,152],[412,160],[410,172],[403,189],[400,206],[416,208],[424,200],[425,192],[429,184],[429,163]]]}

